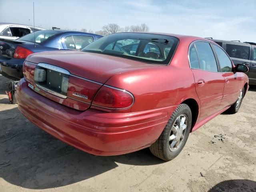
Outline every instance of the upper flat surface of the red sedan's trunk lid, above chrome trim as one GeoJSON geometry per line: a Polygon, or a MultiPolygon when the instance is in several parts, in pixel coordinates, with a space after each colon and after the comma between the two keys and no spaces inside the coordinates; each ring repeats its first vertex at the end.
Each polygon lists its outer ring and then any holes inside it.
{"type": "Polygon", "coordinates": [[[158,66],[115,56],[80,51],[41,52],[29,55],[26,61],[59,66],[71,74],[100,83],[105,83],[115,74],[158,66]]]}

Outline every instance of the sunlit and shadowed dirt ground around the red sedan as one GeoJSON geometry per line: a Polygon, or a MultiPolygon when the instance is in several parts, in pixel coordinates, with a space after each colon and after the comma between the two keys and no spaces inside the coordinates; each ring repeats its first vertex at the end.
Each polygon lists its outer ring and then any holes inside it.
{"type": "Polygon", "coordinates": [[[8,104],[8,81],[0,75],[0,192],[256,192],[256,87],[163,162],[148,149],[102,157],[57,140],[8,104]]]}

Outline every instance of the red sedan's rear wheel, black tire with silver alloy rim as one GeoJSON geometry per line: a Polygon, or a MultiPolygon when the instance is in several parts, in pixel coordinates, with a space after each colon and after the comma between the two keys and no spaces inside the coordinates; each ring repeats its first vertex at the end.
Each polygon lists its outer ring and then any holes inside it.
{"type": "Polygon", "coordinates": [[[191,129],[192,113],[187,104],[180,104],[174,110],[158,140],[150,147],[152,154],[170,161],[182,151],[191,129]]]}

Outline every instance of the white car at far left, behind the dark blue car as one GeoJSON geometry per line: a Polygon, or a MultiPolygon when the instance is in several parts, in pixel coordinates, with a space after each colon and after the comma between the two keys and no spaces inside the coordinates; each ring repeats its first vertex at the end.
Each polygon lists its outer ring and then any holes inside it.
{"type": "Polygon", "coordinates": [[[44,30],[44,28],[0,22],[0,38],[3,39],[18,39],[26,34],[39,30],[44,30]]]}

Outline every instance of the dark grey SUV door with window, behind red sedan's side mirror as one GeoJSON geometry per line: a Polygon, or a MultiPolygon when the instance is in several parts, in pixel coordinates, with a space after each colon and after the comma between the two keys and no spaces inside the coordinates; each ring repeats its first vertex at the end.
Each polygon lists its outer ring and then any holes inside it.
{"type": "MultiPolygon", "coordinates": [[[[244,64],[250,68],[251,60],[250,60],[250,47],[251,45],[238,45],[238,44],[229,44],[226,43],[226,52],[228,56],[230,56],[234,65],[244,64]]],[[[248,75],[248,72],[245,74],[248,75]]]]}

